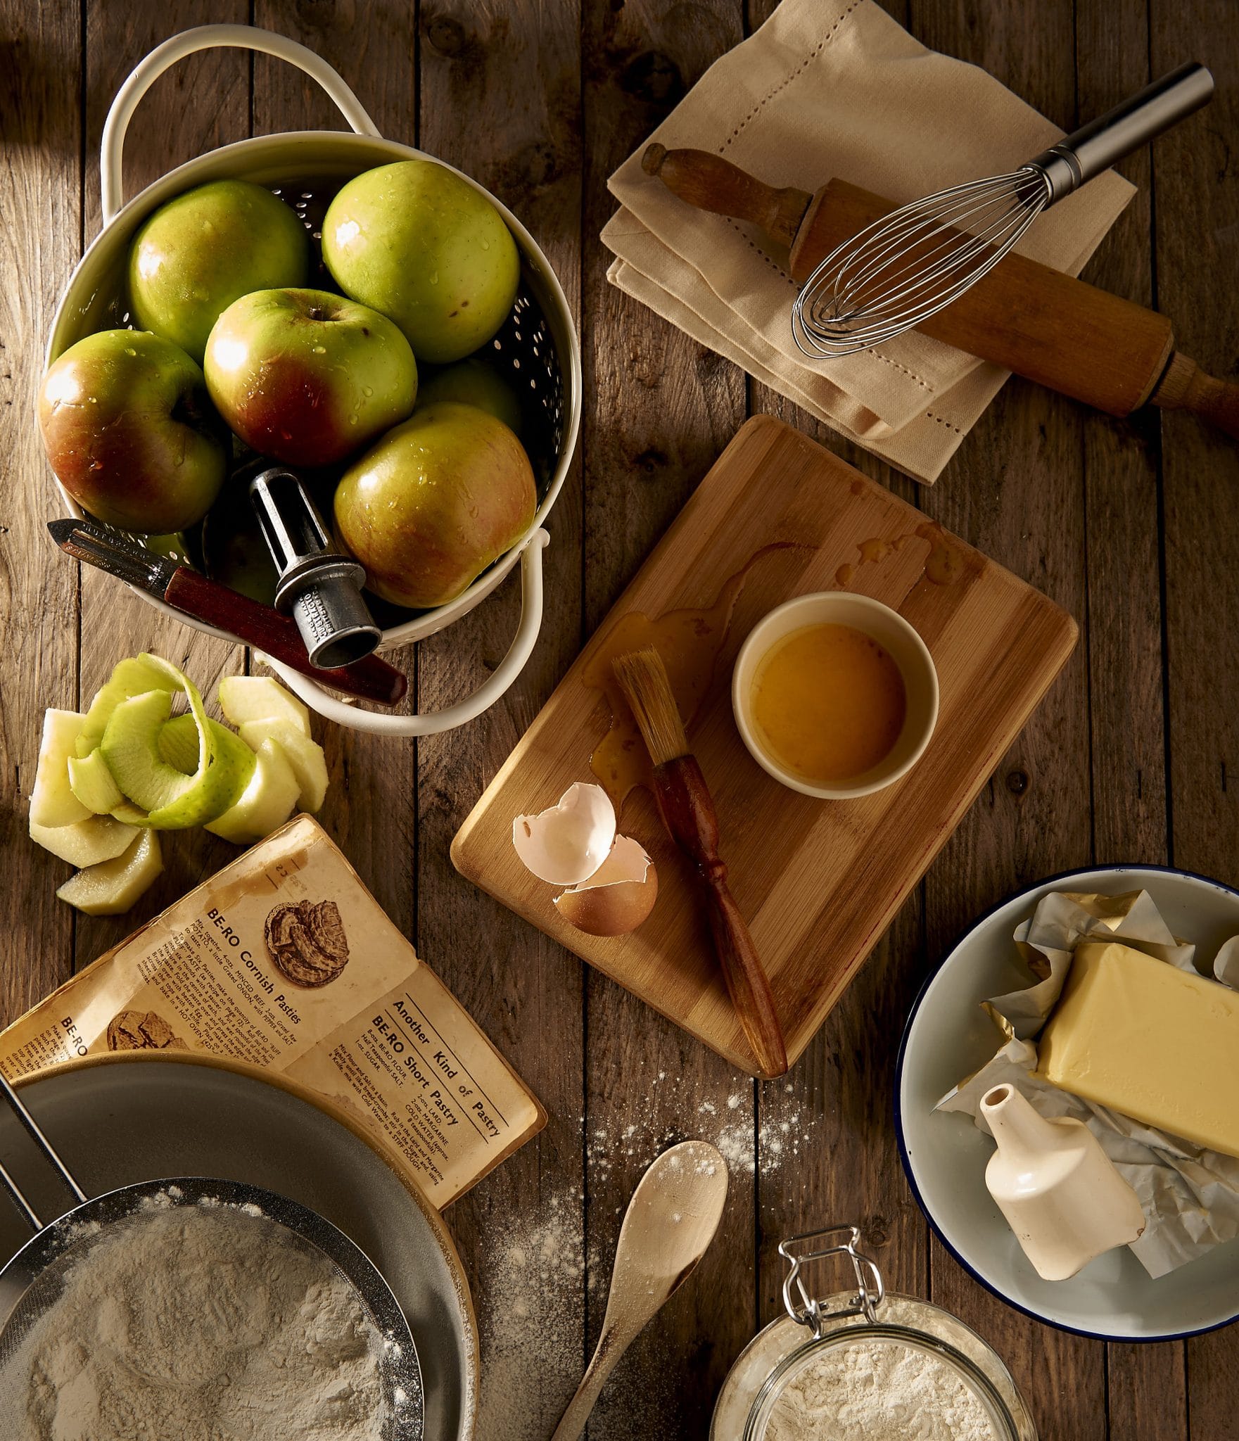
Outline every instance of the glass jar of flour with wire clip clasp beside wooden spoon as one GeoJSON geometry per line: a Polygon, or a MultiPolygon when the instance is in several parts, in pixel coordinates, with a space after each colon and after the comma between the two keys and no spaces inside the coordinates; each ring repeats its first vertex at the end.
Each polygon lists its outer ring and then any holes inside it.
{"type": "Polygon", "coordinates": [[[918,1427],[928,1425],[916,1435],[1036,1441],[1024,1399],[997,1352],[949,1311],[911,1295],[887,1295],[876,1264],[860,1245],[857,1226],[827,1226],[779,1244],[788,1262],[782,1284],[787,1314],[736,1357],[719,1392],[710,1441],[834,1441],[840,1435],[886,1441],[909,1435],[892,1419],[890,1398],[877,1395],[877,1388],[870,1399],[867,1392],[856,1393],[846,1417],[805,1409],[797,1382],[830,1386],[859,1359],[862,1347],[862,1370],[875,1362],[889,1375],[892,1366],[908,1360],[912,1372],[945,1379],[949,1401],[936,1417],[925,1417],[922,1408],[918,1427]],[[856,1290],[817,1300],[802,1272],[827,1257],[847,1257],[856,1290]],[[867,1406],[873,1409],[866,1412],[867,1406]]]}

